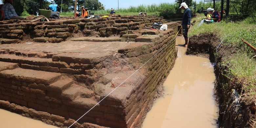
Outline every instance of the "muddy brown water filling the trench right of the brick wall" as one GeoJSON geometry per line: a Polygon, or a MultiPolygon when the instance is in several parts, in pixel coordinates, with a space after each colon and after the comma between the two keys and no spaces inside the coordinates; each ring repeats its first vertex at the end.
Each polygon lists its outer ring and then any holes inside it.
{"type": "Polygon", "coordinates": [[[214,69],[208,58],[185,55],[184,38],[176,38],[178,57],[163,83],[164,96],[155,101],[143,128],[218,127],[214,69]]]}

